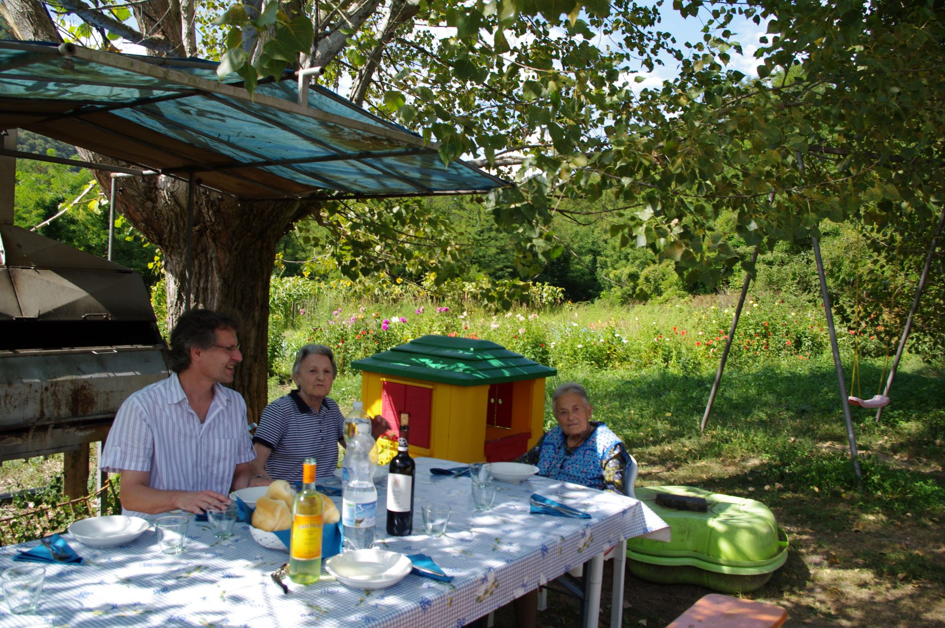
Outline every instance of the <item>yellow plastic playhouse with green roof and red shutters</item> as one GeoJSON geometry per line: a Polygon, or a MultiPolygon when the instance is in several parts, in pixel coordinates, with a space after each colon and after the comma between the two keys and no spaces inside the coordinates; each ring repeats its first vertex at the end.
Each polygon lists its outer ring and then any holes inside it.
{"type": "Polygon", "coordinates": [[[513,460],[543,432],[544,380],[558,371],[488,340],[426,335],[356,360],[369,415],[400,430],[410,453],[456,462],[513,460]]]}

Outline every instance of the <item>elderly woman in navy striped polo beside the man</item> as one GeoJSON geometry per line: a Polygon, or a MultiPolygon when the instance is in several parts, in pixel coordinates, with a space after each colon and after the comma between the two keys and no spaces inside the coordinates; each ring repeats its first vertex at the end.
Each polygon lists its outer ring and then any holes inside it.
{"type": "MultiPolygon", "coordinates": [[[[338,444],[344,441],[344,416],[335,399],[328,397],[338,374],[335,354],[324,345],[305,345],[292,365],[292,379],[299,386],[266,406],[252,438],[254,467],[264,478],[301,481],[305,458],[318,461],[318,478],[330,477],[338,464],[338,444]]],[[[387,422],[374,418],[376,438],[387,422]]]]}

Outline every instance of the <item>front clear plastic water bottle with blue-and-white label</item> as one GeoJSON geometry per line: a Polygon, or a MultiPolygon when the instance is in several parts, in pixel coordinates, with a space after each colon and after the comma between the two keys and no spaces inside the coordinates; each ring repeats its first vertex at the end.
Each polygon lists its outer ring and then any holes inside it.
{"type": "Polygon", "coordinates": [[[377,522],[377,489],[371,479],[369,457],[374,445],[374,439],[370,437],[370,420],[355,418],[352,428],[345,453],[350,475],[341,499],[345,552],[369,549],[374,542],[377,522]]]}

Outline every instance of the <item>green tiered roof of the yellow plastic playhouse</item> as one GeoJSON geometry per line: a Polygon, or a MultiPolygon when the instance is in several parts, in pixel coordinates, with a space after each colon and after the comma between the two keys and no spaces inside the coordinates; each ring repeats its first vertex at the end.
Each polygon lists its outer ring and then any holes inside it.
{"type": "Polygon", "coordinates": [[[489,340],[436,335],[422,336],[389,351],[355,360],[352,366],[369,373],[455,386],[520,382],[558,374],[550,366],[540,365],[489,340]]]}

